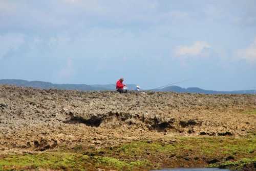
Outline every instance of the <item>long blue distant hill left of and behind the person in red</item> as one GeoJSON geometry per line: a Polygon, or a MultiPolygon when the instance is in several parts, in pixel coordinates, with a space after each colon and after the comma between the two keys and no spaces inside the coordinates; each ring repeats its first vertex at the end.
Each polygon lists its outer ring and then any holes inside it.
{"type": "MultiPolygon", "coordinates": [[[[4,79],[0,80],[0,84],[7,85],[16,85],[23,87],[33,87],[41,89],[61,89],[61,90],[115,90],[115,84],[106,84],[106,85],[87,85],[87,84],[53,84],[50,82],[44,81],[26,81],[26,80],[16,80],[16,79],[4,79]]],[[[136,88],[135,84],[128,84],[127,87],[131,90],[136,88]]]]}

